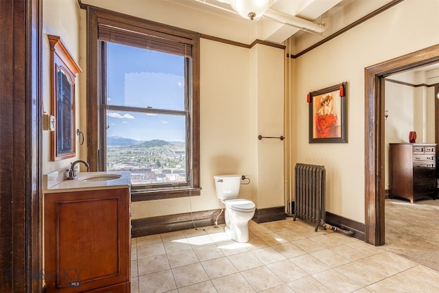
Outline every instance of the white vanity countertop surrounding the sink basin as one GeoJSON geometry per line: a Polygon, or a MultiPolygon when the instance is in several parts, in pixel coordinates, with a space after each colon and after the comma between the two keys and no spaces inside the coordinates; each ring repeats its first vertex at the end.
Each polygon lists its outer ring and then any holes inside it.
{"type": "Polygon", "coordinates": [[[44,189],[45,194],[54,194],[58,192],[69,191],[86,191],[97,189],[116,189],[131,186],[131,172],[129,171],[117,171],[117,172],[80,172],[76,180],[63,180],[56,185],[50,186],[44,189]],[[86,181],[80,180],[86,176],[104,175],[104,174],[119,174],[120,178],[106,180],[106,181],[86,181]]]}

